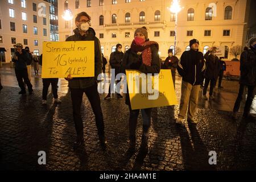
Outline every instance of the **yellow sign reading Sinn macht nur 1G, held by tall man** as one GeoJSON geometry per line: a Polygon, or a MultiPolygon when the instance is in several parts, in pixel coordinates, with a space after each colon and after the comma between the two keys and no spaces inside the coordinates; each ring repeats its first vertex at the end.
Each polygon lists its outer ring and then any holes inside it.
{"type": "Polygon", "coordinates": [[[94,41],[43,42],[42,78],[94,76],[94,41]]]}

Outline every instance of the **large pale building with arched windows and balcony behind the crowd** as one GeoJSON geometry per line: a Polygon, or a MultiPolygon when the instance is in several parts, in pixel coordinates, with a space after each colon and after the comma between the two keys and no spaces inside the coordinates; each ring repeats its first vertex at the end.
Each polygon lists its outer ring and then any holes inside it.
{"type": "MultiPolygon", "coordinates": [[[[75,28],[77,13],[85,11],[92,17],[92,27],[100,39],[106,57],[121,43],[123,51],[130,48],[134,31],[146,26],[148,38],[159,43],[160,57],[174,47],[175,14],[168,7],[172,0],[60,0],[59,17],[65,9],[72,11],[73,20],[59,19],[59,38],[64,41],[75,28]],[[71,26],[72,22],[72,26],[71,26]]],[[[246,0],[180,0],[183,7],[177,14],[177,53],[189,48],[189,40],[200,42],[200,51],[220,46],[226,59],[232,59],[230,48],[246,42],[246,0]]]]}

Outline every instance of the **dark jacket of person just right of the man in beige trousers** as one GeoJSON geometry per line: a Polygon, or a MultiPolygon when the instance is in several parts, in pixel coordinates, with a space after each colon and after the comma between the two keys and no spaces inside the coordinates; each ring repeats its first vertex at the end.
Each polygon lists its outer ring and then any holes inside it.
{"type": "Polygon", "coordinates": [[[218,60],[217,56],[210,55],[210,51],[205,53],[204,58],[206,60],[204,77],[217,80],[218,74],[220,73],[220,60],[218,60]]]}

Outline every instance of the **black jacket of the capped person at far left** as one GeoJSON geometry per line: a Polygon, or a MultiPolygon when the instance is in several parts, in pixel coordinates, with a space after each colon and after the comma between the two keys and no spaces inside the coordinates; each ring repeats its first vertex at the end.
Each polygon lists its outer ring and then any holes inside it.
{"type": "Polygon", "coordinates": [[[27,63],[30,62],[30,57],[27,51],[22,49],[22,54],[19,54],[18,51],[14,53],[12,61],[15,63],[15,69],[22,70],[27,68],[27,63]]]}

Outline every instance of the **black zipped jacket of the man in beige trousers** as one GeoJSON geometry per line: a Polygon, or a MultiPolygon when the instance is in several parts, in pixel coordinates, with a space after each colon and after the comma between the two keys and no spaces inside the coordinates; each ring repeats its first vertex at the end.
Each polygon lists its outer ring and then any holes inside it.
{"type": "Polygon", "coordinates": [[[204,79],[205,63],[202,52],[190,49],[182,53],[177,71],[183,81],[192,85],[200,85],[204,79]]]}

